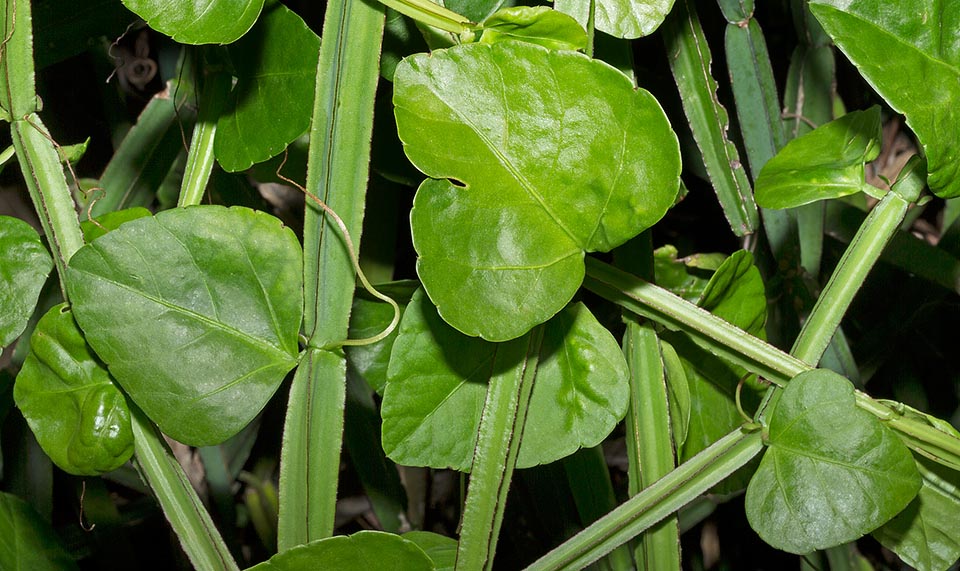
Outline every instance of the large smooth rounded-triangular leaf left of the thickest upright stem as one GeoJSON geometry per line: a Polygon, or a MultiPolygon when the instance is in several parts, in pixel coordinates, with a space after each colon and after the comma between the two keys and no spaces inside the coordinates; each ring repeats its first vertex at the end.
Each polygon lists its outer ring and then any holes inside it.
{"type": "Polygon", "coordinates": [[[276,218],[196,206],[88,244],[67,289],[127,394],[171,437],[206,446],[250,422],[296,364],[302,267],[276,218]]]}

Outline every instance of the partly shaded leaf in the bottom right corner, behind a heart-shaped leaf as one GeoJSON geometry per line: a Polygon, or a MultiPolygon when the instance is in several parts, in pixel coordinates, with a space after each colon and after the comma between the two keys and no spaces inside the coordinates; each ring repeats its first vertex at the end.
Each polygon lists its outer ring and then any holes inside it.
{"type": "Polygon", "coordinates": [[[960,473],[917,459],[920,493],[873,536],[920,571],[946,569],[960,558],[960,473]]]}

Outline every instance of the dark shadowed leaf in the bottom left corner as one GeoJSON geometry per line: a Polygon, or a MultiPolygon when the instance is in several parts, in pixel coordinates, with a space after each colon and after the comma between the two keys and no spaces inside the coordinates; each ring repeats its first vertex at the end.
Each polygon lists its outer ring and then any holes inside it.
{"type": "Polygon", "coordinates": [[[57,533],[27,502],[0,492],[0,569],[77,569],[57,533]]]}

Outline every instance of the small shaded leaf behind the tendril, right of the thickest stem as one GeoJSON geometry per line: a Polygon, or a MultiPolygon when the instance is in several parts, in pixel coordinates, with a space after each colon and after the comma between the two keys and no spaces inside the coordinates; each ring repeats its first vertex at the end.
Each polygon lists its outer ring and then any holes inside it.
{"type": "MultiPolygon", "coordinates": [[[[380,293],[390,296],[400,309],[406,308],[414,292],[420,287],[415,281],[394,282],[380,284],[377,289],[380,293]]],[[[383,301],[376,299],[369,292],[358,289],[353,298],[353,310],[350,312],[350,338],[365,339],[373,337],[390,325],[393,321],[393,308],[383,301]]],[[[390,363],[390,352],[400,334],[397,327],[390,335],[370,345],[350,345],[343,350],[347,354],[350,366],[370,385],[374,391],[383,394],[387,385],[387,365],[390,363]]]]}

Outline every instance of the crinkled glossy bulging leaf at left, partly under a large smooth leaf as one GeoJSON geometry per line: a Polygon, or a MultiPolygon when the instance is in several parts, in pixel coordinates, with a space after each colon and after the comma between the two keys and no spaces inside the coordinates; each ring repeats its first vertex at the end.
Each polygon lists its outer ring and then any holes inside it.
{"type": "Polygon", "coordinates": [[[13,397],[43,451],[66,472],[103,474],[133,455],[127,401],[66,304],[37,323],[13,397]]]}

